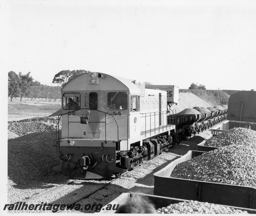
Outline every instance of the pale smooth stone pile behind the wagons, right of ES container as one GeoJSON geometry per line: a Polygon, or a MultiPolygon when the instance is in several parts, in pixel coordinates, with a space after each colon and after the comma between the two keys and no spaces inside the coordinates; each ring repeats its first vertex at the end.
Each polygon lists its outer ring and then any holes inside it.
{"type": "Polygon", "coordinates": [[[186,108],[193,108],[193,107],[211,107],[211,105],[209,105],[203,99],[199,98],[193,93],[180,92],[178,105],[172,106],[173,109],[176,109],[176,113],[181,112],[186,108]]]}

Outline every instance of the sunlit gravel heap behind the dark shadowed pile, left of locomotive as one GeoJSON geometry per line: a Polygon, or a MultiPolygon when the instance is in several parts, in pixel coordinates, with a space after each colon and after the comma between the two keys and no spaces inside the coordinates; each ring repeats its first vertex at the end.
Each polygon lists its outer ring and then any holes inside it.
{"type": "Polygon", "coordinates": [[[19,136],[31,134],[34,132],[56,132],[56,124],[43,121],[9,122],[8,130],[19,136]]]}

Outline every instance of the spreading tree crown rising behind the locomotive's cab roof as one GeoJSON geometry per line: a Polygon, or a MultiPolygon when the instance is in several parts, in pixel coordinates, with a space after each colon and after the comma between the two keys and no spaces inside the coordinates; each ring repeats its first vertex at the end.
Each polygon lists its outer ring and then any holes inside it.
{"type": "Polygon", "coordinates": [[[85,70],[60,71],[54,76],[52,83],[57,83],[57,84],[59,84],[59,86],[63,86],[73,77],[75,77],[81,73],[87,73],[87,72],[89,72],[89,71],[85,71],[85,70]]]}

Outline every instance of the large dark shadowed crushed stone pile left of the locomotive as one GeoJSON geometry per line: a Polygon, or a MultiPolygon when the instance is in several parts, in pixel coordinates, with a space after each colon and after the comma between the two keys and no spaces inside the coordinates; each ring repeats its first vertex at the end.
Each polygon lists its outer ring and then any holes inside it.
{"type": "Polygon", "coordinates": [[[52,169],[57,165],[56,132],[33,132],[8,140],[8,181],[11,184],[26,187],[42,179],[50,183],[50,179],[56,178],[52,169]]]}

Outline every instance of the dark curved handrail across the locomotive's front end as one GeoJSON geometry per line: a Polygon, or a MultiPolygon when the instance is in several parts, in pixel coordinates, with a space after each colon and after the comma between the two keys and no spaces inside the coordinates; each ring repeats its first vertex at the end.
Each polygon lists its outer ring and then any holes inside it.
{"type": "MultiPolygon", "coordinates": [[[[72,112],[76,112],[76,111],[79,111],[79,110],[85,110],[85,109],[89,109],[89,108],[80,108],[80,109],[76,109],[76,110],[74,110],[74,111],[72,111],[72,112]]],[[[90,109],[89,109],[90,110],[90,109]]],[[[112,114],[110,114],[110,113],[107,113],[107,112],[103,112],[103,111],[100,111],[100,110],[97,110],[97,109],[93,109],[93,111],[97,111],[97,112],[101,112],[101,113],[105,113],[105,122],[88,122],[88,123],[105,123],[105,143],[107,143],[107,122],[106,122],[106,114],[109,114],[110,116],[112,116],[113,118],[114,118],[114,120],[115,120],[115,117],[112,115],[112,114]]],[[[58,131],[59,131],[59,121],[60,121],[60,119],[61,119],[61,117],[63,116],[63,115],[66,115],[67,114],[67,118],[68,118],[68,126],[67,126],[67,134],[68,134],[68,141],[69,141],[69,115],[72,113],[71,111],[69,111],[69,112],[67,112],[67,113],[63,113],[63,114],[61,114],[61,115],[58,115],[58,122],[57,122],[57,125],[56,125],[56,133],[57,133],[57,127],[58,127],[58,131]]],[[[80,123],[80,122],[72,122],[72,123],[80,123]]],[[[119,126],[118,126],[118,123],[116,122],[116,120],[115,120],[115,123],[116,123],[116,126],[117,126],[117,140],[118,140],[118,143],[119,143],[119,126]]],[[[56,138],[57,138],[57,134],[56,134],[56,138]]],[[[59,140],[59,132],[58,132],[58,140],[59,140]]],[[[59,145],[59,142],[60,141],[58,141],[57,140],[57,143],[58,143],[58,145],[59,145]]],[[[58,148],[58,147],[57,147],[58,148]]],[[[57,153],[59,153],[59,151],[58,151],[59,149],[57,149],[57,153]]],[[[118,144],[118,154],[120,153],[120,149],[119,149],[119,144],[118,144]]]]}

